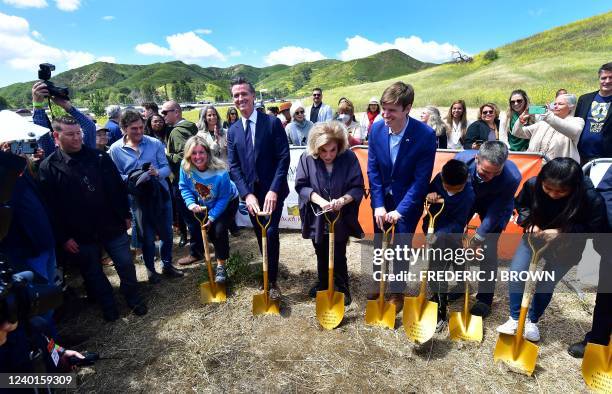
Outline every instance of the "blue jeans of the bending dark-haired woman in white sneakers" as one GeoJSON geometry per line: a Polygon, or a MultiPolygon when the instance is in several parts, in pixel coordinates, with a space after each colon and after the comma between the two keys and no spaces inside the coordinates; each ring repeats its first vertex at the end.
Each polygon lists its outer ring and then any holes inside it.
{"type": "MultiPolygon", "coordinates": [[[[550,253],[547,254],[549,251],[550,249],[547,249],[543,253],[543,257],[546,258],[546,264],[544,264],[542,272],[548,271],[554,273],[554,280],[538,281],[535,286],[535,293],[532,295],[531,305],[529,306],[529,313],[527,315],[529,320],[531,320],[533,323],[537,323],[542,314],[544,314],[546,307],[552,299],[552,294],[555,291],[555,286],[557,283],[563,279],[565,274],[567,274],[567,271],[578,263],[578,260],[576,260],[576,256],[574,254],[570,253],[569,257],[568,254],[565,253],[558,253],[555,254],[555,256],[551,256],[550,253]]],[[[531,255],[531,248],[527,244],[527,241],[522,239],[521,243],[516,249],[516,252],[514,253],[514,257],[512,258],[510,271],[528,272],[531,255]]],[[[508,288],[510,292],[510,316],[517,320],[521,312],[521,301],[523,299],[525,282],[520,280],[511,280],[508,283],[508,288]]]]}

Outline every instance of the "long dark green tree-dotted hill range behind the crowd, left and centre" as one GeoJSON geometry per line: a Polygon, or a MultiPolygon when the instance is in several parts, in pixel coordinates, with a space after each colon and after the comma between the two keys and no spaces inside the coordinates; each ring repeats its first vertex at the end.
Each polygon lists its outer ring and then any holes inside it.
{"type": "MultiPolygon", "coordinates": [[[[266,88],[270,96],[279,97],[302,94],[314,86],[331,88],[378,81],[428,66],[391,50],[348,62],[320,60],[264,68],[244,64],[200,67],[181,61],[149,65],[98,62],[57,74],[52,81],[69,87],[77,104],[100,109],[108,103],[162,101],[167,97],[180,101],[228,100],[229,81],[238,75],[254,82],[258,89],[266,88]]],[[[0,88],[0,96],[13,107],[28,106],[32,83],[0,88]]]]}

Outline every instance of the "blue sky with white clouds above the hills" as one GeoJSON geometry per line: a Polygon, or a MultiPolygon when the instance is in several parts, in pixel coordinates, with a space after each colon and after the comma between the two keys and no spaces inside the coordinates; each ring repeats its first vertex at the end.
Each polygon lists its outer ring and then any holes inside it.
{"type": "Polygon", "coordinates": [[[201,66],[348,60],[398,48],[448,60],[610,11],[601,0],[0,0],[0,86],[97,60],[201,66]],[[516,4],[513,8],[512,6],[516,4]]]}

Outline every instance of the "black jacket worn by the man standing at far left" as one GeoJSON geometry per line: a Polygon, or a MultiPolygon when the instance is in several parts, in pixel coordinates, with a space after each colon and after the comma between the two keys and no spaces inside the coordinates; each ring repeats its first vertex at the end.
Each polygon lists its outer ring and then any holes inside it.
{"type": "Polygon", "coordinates": [[[39,178],[59,245],[70,238],[91,243],[125,233],[127,191],[108,154],[85,145],[74,155],[58,149],[41,163],[39,178]]]}

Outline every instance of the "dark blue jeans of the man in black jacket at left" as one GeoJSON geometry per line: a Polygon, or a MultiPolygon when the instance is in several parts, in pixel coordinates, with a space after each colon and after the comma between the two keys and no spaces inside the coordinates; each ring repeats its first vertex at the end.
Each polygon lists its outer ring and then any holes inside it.
{"type": "MultiPolygon", "coordinates": [[[[121,280],[121,292],[127,304],[130,307],[140,304],[142,300],[138,294],[136,269],[130,253],[130,238],[124,233],[103,242],[102,246],[113,260],[113,265],[121,280]]],[[[79,244],[79,252],[69,254],[69,256],[78,263],[88,293],[96,298],[104,311],[116,310],[113,288],[100,264],[100,245],[96,243],[79,244]]]]}

